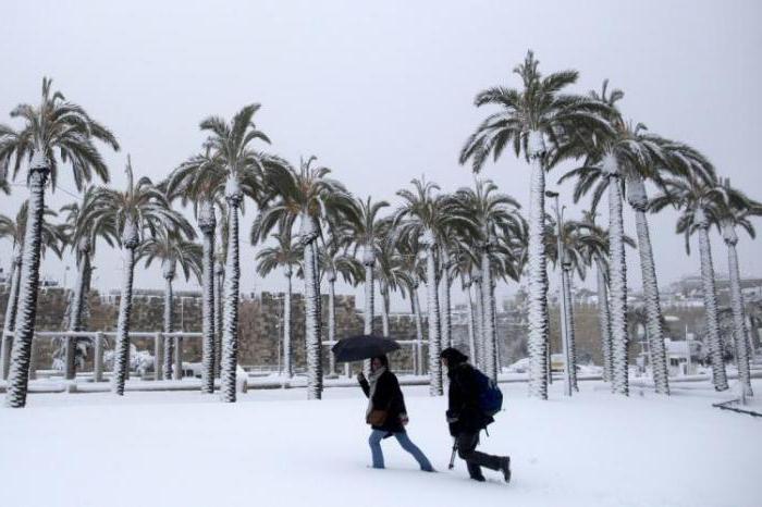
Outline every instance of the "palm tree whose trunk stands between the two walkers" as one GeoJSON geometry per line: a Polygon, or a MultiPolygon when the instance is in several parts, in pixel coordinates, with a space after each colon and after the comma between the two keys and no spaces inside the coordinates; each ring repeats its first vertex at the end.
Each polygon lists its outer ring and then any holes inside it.
{"type": "Polygon", "coordinates": [[[438,292],[438,245],[443,243],[447,227],[459,221],[454,201],[446,195],[438,195],[440,187],[426,180],[413,180],[413,190],[402,189],[397,195],[403,205],[394,214],[394,228],[400,236],[415,240],[426,249],[426,285],[429,307],[429,393],[442,395],[442,351],[440,305],[438,292]]]}

